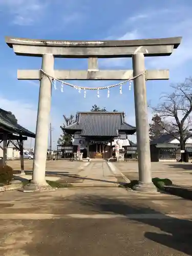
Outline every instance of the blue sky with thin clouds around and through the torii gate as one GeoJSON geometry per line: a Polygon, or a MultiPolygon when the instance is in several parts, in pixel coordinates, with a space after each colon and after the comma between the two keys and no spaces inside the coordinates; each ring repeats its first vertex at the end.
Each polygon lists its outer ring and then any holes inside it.
{"type": "MultiPolygon", "coordinates": [[[[0,107],[12,111],[20,124],[35,131],[38,82],[18,81],[17,69],[39,69],[41,58],[16,56],[5,43],[5,36],[36,39],[102,40],[143,39],[183,36],[172,56],[146,59],[148,69],[169,69],[170,80],[148,81],[147,100],[157,103],[161,93],[169,92],[170,83],[182,82],[192,70],[192,2],[189,0],[0,0],[0,107]]],[[[100,59],[100,69],[132,69],[127,59],[100,59]]],[[[55,69],[87,69],[86,59],[55,59],[55,69]]],[[[73,84],[97,87],[116,81],[71,81],[73,84]]],[[[53,141],[60,134],[62,115],[89,111],[93,104],[107,110],[125,111],[126,121],[135,124],[133,89],[129,84],[107,91],[97,98],[96,92],[83,93],[65,87],[52,94],[51,121],[53,141]]],[[[151,113],[150,113],[151,116],[151,113]]],[[[30,142],[28,142],[30,143],[30,142]]]]}

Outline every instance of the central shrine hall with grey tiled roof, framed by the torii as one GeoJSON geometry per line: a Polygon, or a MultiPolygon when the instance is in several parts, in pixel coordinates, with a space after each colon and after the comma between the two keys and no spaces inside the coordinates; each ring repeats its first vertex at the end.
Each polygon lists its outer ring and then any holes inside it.
{"type": "Polygon", "coordinates": [[[124,121],[124,112],[78,112],[75,123],[65,131],[74,136],[74,145],[79,144],[83,157],[112,157],[114,139],[127,139],[136,127],[124,121]]]}

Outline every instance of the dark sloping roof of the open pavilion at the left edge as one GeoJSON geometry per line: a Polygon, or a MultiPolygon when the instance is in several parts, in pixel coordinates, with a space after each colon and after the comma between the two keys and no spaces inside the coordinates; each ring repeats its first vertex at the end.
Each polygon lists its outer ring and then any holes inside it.
{"type": "Polygon", "coordinates": [[[35,138],[35,134],[17,123],[15,116],[8,111],[0,109],[0,128],[13,134],[35,138]]]}

